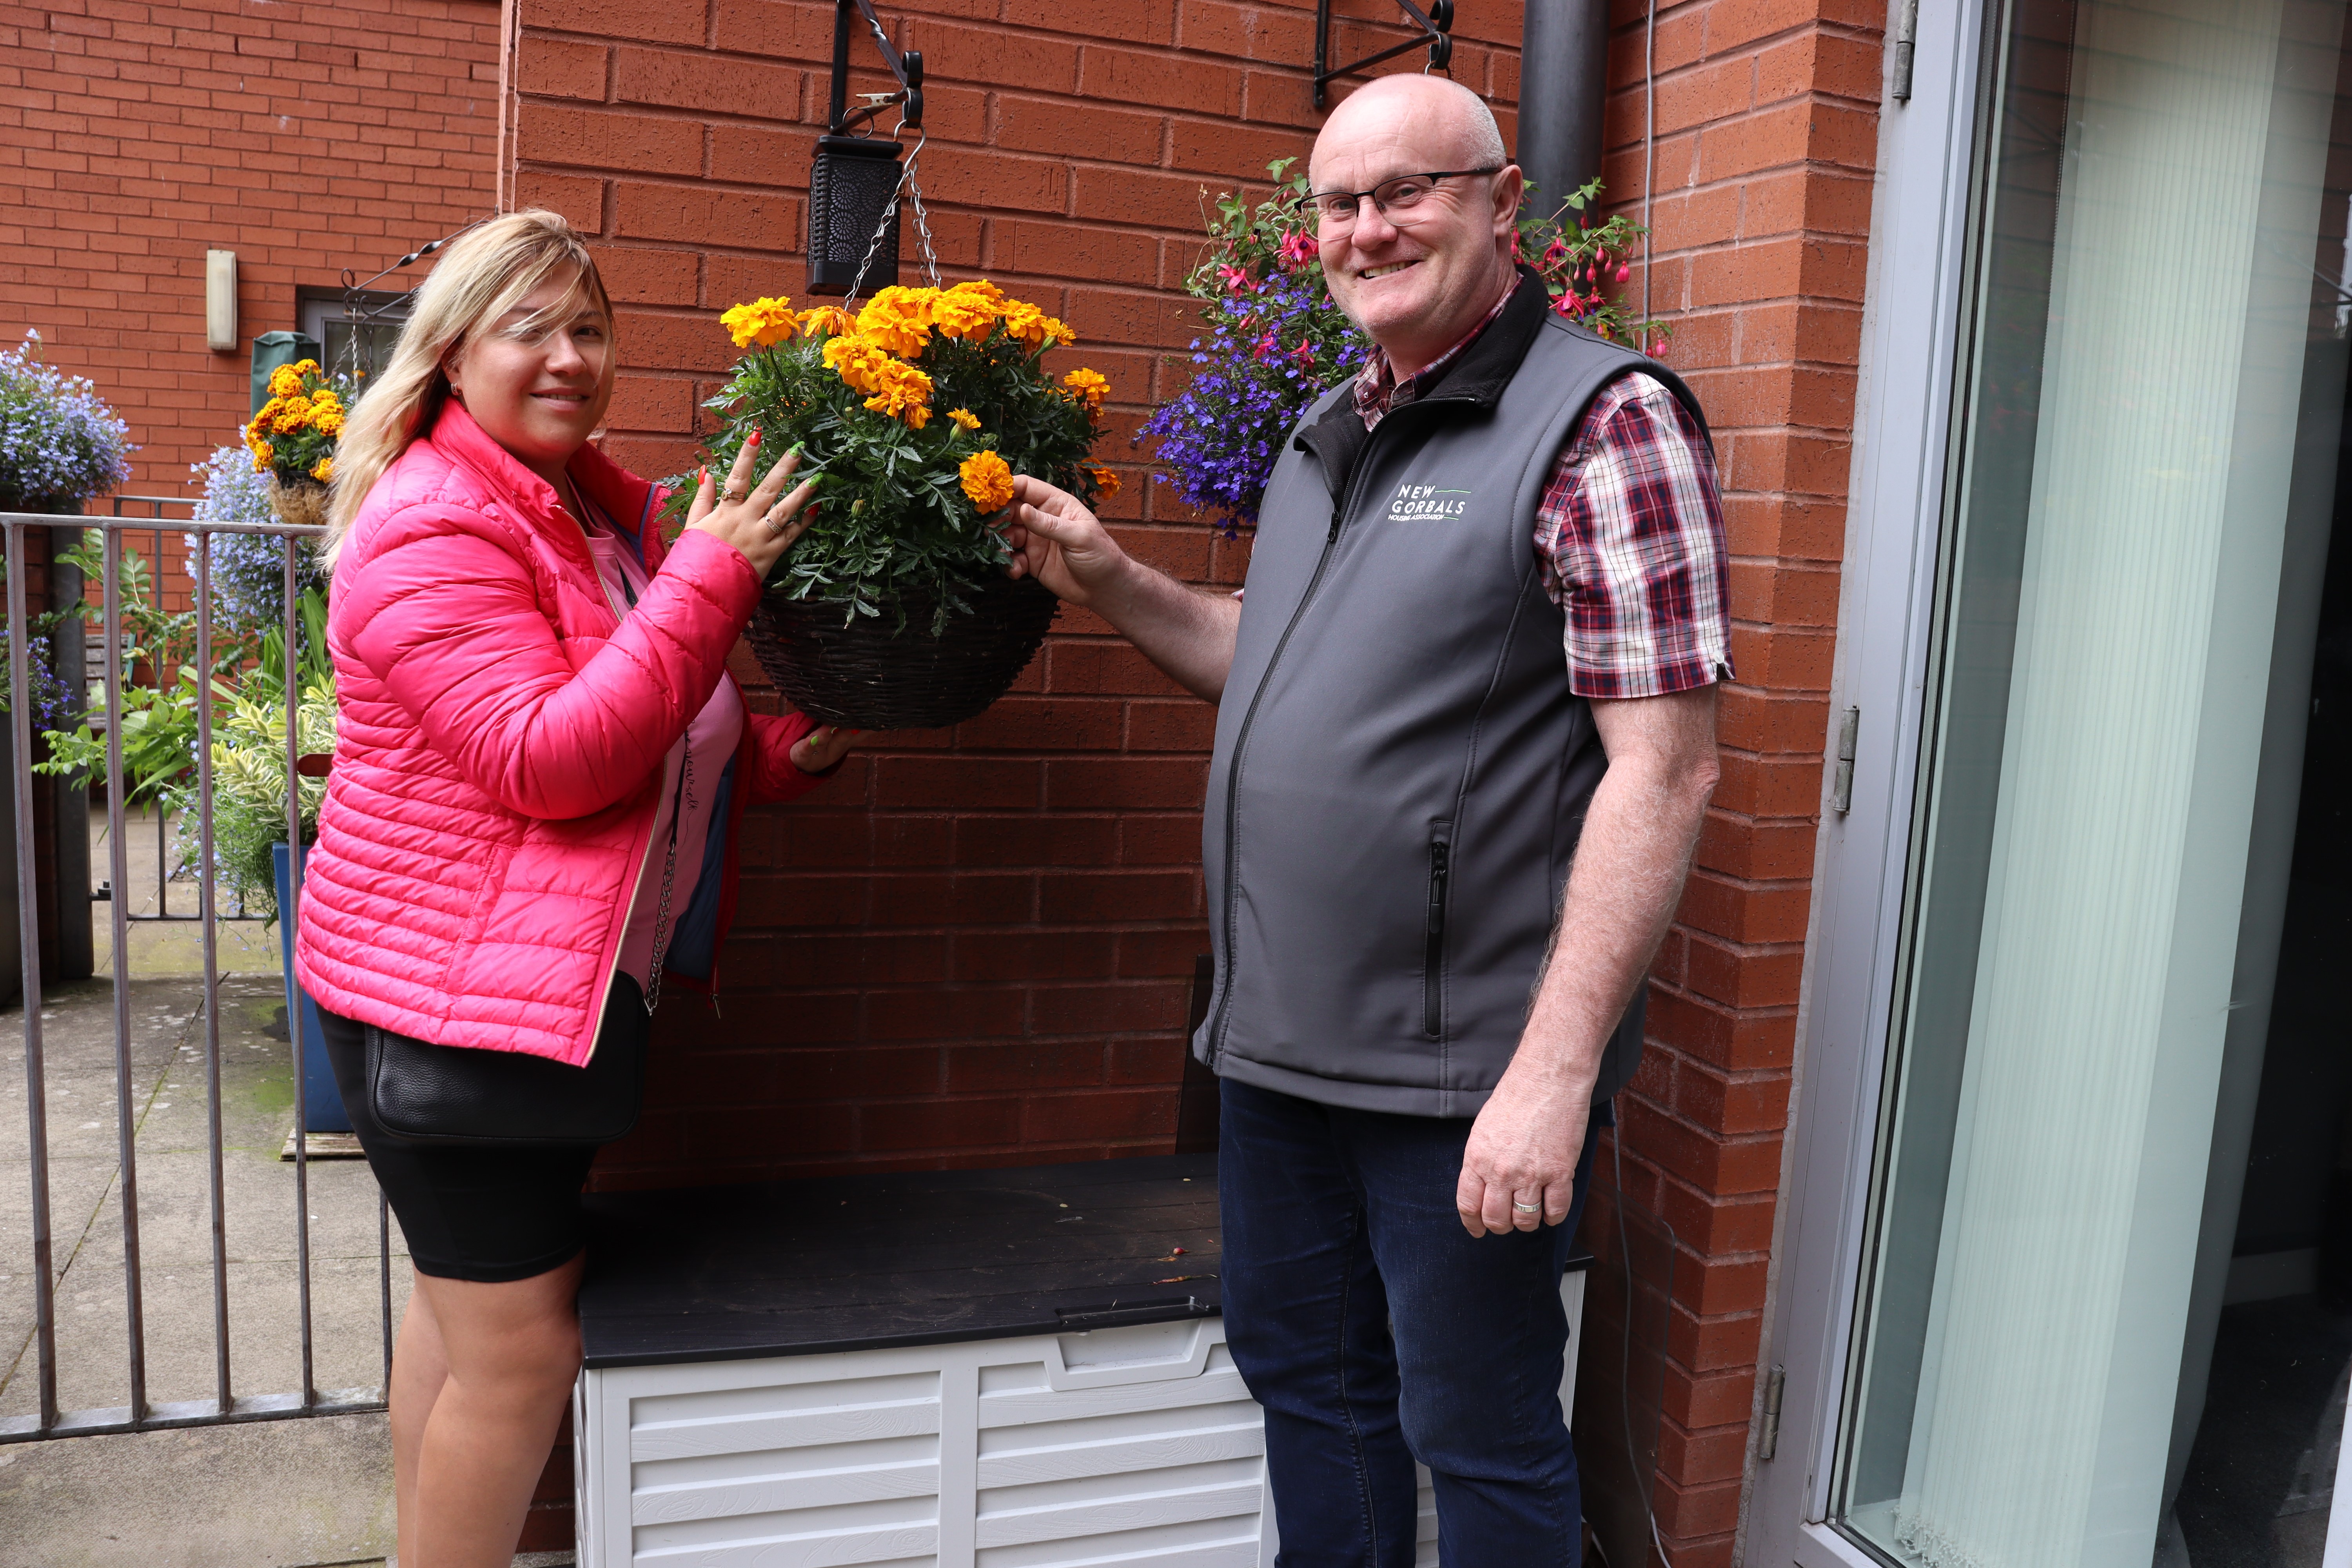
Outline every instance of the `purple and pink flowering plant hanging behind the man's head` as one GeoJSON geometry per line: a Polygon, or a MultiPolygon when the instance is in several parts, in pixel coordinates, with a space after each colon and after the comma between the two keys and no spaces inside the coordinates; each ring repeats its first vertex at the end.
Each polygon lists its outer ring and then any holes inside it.
{"type": "MultiPolygon", "coordinates": [[[[1228,538],[1258,522],[1258,501],[1298,416],[1352,376],[1369,350],[1324,284],[1315,214],[1296,160],[1265,165],[1275,190],[1251,207],[1223,195],[1209,247],[1185,280],[1207,336],[1192,339],[1192,383],[1160,404],[1136,435],[1157,442],[1160,484],[1207,512],[1228,538]]],[[[1602,287],[1625,282],[1625,254],[1642,228],[1623,214],[1592,223],[1599,181],[1545,214],[1529,186],[1517,259],[1543,277],[1552,308],[1604,339],[1656,343],[1658,322],[1637,322],[1602,287]]]]}

